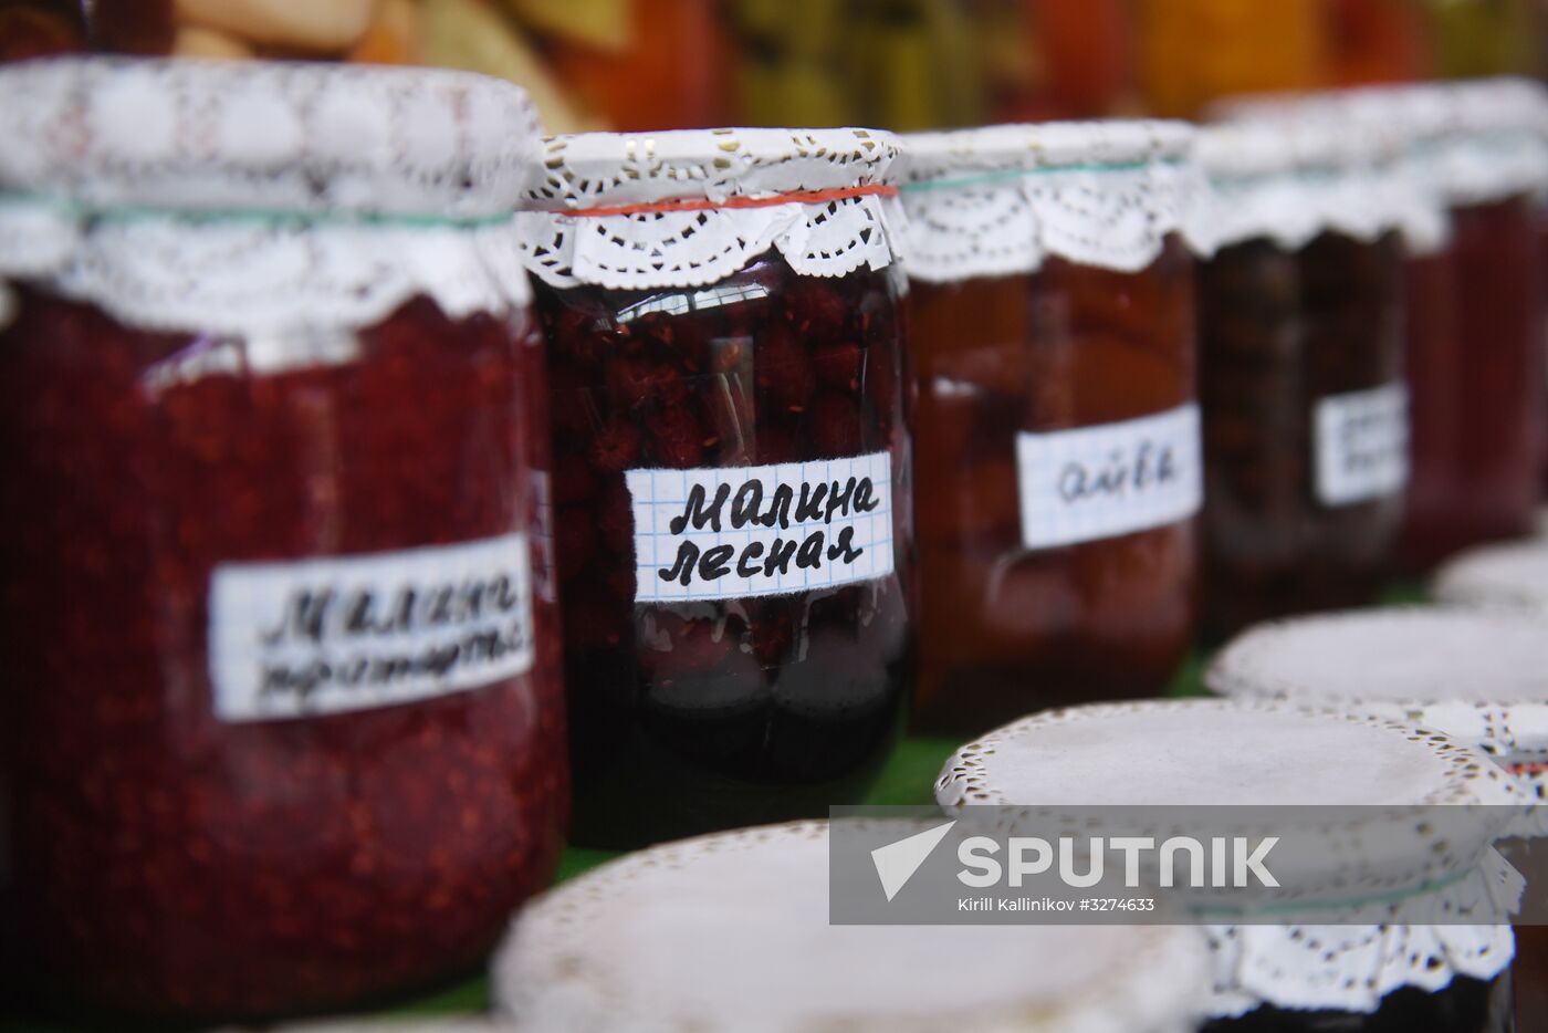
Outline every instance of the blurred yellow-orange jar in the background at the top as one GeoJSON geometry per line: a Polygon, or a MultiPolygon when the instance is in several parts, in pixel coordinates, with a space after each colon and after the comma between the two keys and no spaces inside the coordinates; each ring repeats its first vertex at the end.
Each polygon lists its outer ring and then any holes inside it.
{"type": "Polygon", "coordinates": [[[1234,93],[1308,90],[1327,79],[1325,0],[1135,0],[1149,110],[1195,118],[1234,93]]]}

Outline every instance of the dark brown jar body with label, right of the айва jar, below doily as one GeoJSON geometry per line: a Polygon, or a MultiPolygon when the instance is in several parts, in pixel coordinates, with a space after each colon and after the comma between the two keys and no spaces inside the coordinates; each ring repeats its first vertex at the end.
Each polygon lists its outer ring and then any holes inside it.
{"type": "Polygon", "coordinates": [[[1379,589],[1402,520],[1401,307],[1393,232],[1249,240],[1203,265],[1212,632],[1379,589]]]}

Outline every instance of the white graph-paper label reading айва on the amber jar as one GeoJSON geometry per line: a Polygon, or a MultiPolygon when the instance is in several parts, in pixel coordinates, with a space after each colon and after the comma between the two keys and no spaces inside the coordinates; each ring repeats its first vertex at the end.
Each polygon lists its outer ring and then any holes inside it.
{"type": "Polygon", "coordinates": [[[1198,406],[1015,437],[1022,542],[1056,548],[1184,520],[1204,499],[1198,406]]]}

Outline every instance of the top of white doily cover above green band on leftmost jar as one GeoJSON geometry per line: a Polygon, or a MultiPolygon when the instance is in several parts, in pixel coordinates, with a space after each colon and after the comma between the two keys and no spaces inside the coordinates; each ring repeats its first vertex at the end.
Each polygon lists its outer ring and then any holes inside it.
{"type": "Polygon", "coordinates": [[[526,94],[464,71],[62,57],[0,70],[0,190],[228,215],[505,215],[526,94]]]}

